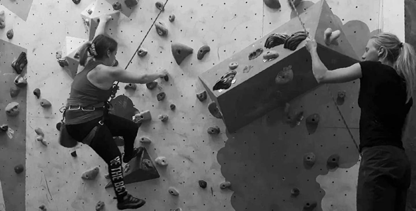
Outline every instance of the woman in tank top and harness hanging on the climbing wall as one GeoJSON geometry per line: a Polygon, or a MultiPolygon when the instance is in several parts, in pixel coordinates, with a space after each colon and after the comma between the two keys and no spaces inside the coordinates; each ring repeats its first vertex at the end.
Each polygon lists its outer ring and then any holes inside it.
{"type": "MultiPolygon", "coordinates": [[[[72,82],[71,94],[67,100],[65,129],[78,142],[89,145],[109,166],[109,176],[114,185],[117,208],[137,209],[146,201],[127,193],[124,186],[121,161],[129,162],[138,149],[134,148],[139,126],[131,120],[108,114],[107,100],[113,91],[114,81],[122,83],[149,83],[168,73],[138,74],[113,67],[117,54],[117,42],[104,35],[109,15],[99,17],[99,25],[92,42],[85,43],[79,50],[79,63],[84,69],[72,82]],[[96,127],[97,126],[97,127],[96,127]],[[96,130],[92,133],[92,131],[96,130]],[[124,155],[113,140],[114,136],[124,138],[124,155]]],[[[61,131],[62,132],[62,131],[61,131]]]]}

